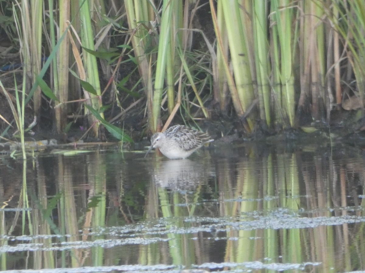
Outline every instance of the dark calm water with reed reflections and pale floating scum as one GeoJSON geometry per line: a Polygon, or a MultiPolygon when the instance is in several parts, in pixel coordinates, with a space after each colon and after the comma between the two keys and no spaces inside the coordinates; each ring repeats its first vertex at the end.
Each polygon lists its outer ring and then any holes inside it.
{"type": "Polygon", "coordinates": [[[365,270],[362,151],[244,143],[143,156],[39,155],[26,183],[23,162],[0,157],[0,270],[365,270]]]}

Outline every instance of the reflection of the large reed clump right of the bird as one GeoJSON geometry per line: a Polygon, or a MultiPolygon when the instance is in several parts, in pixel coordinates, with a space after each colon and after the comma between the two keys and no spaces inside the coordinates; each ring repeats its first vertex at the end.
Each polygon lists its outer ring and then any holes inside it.
{"type": "Polygon", "coordinates": [[[238,240],[227,240],[225,260],[245,262],[266,257],[283,263],[321,261],[326,268],[333,267],[339,271],[350,270],[350,264],[357,265],[351,269],[364,269],[361,264],[365,262],[365,250],[359,247],[365,240],[364,224],[337,223],[336,218],[364,214],[361,209],[352,212],[348,207],[361,207],[359,195],[364,192],[363,159],[357,160],[361,163],[318,153],[269,153],[260,160],[242,158],[232,162],[234,165],[227,170],[217,170],[222,216],[251,221],[245,215],[288,209],[290,215],[295,215],[298,220],[303,216],[322,217],[329,223],[333,222],[312,228],[293,228],[288,221],[288,228],[276,227],[275,221],[285,226],[286,219],[281,215],[274,219],[271,229],[260,226],[248,230],[232,229],[227,226],[227,237],[237,237],[238,240]],[[229,175],[233,168],[236,169],[236,177],[229,175]],[[227,199],[237,201],[227,202],[227,199]],[[353,240],[354,237],[360,241],[353,240]],[[351,242],[354,242],[355,248],[351,247],[351,242]],[[341,262],[337,262],[338,259],[341,262]]]}

